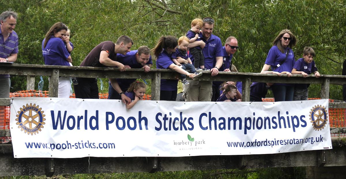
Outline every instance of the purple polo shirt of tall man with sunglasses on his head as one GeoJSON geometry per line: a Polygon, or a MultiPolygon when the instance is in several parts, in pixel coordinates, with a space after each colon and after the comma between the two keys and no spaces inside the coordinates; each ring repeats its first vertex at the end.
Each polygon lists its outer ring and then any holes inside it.
{"type": "MultiPolygon", "coordinates": [[[[204,56],[204,66],[208,69],[212,69],[215,67],[216,63],[216,57],[222,57],[224,56],[224,53],[222,52],[222,43],[219,37],[211,34],[208,41],[206,41],[203,38],[203,34],[200,33],[200,37],[203,40],[204,43],[206,43],[206,46],[202,49],[203,56],[204,56]]],[[[194,58],[192,54],[189,54],[189,57],[192,61],[194,61],[194,58]]]]}

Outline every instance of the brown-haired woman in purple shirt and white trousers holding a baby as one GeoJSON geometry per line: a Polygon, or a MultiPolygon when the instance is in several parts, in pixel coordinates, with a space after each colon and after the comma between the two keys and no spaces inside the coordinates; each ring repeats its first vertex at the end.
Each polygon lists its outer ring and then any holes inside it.
{"type": "MultiPolygon", "coordinates": [[[[46,65],[70,66],[72,62],[70,53],[61,39],[67,31],[62,22],[55,23],[47,32],[42,41],[42,55],[46,65]]],[[[71,93],[71,78],[59,77],[58,97],[69,98],[71,93]]]]}

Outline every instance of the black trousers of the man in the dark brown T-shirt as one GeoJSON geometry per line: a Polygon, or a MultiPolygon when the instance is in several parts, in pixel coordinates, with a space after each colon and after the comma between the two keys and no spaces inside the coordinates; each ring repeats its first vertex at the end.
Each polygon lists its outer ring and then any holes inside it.
{"type": "Polygon", "coordinates": [[[76,78],[78,84],[73,84],[76,98],[99,99],[99,88],[96,78],[76,78]]]}

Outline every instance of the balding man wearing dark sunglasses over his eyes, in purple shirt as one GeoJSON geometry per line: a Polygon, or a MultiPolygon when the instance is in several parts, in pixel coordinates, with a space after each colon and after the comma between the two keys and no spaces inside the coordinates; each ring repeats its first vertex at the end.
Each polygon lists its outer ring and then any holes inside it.
{"type": "MultiPolygon", "coordinates": [[[[226,39],[225,46],[222,47],[222,52],[224,55],[222,57],[222,65],[219,71],[230,72],[230,68],[232,66],[232,57],[238,48],[238,41],[235,37],[228,37],[226,39]]],[[[220,85],[222,84],[222,82],[223,81],[213,81],[213,94],[211,97],[211,101],[217,101],[217,99],[220,97],[220,85]]]]}

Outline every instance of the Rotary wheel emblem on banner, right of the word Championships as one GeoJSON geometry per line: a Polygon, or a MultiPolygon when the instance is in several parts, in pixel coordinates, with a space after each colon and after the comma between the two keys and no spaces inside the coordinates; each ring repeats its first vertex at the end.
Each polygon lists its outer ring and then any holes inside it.
{"type": "Polygon", "coordinates": [[[312,123],[313,129],[322,130],[326,127],[326,123],[328,121],[326,108],[322,105],[317,105],[312,107],[310,112],[310,122],[312,123]]]}

